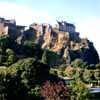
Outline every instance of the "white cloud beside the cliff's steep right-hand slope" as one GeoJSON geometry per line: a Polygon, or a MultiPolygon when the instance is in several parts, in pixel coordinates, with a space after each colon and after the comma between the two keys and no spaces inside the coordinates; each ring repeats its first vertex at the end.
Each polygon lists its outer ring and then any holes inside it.
{"type": "Polygon", "coordinates": [[[87,37],[93,41],[100,55],[100,19],[91,19],[77,25],[77,30],[81,37],[87,37]]]}

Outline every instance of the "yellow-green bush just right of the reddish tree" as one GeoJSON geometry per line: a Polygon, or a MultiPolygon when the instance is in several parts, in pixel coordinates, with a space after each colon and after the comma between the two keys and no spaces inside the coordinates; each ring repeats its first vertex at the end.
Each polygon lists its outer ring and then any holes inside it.
{"type": "Polygon", "coordinates": [[[88,100],[90,97],[89,90],[85,84],[80,81],[72,81],[71,87],[71,100],[88,100]]]}

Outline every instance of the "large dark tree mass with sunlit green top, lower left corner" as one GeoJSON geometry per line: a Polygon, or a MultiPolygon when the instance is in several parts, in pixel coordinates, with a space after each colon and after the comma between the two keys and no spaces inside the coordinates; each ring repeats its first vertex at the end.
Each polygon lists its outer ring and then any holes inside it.
{"type": "Polygon", "coordinates": [[[33,96],[36,95],[33,93],[37,89],[35,86],[46,80],[49,67],[33,58],[27,58],[19,60],[7,69],[0,71],[0,85],[5,88],[8,99],[12,100],[14,97],[19,99],[21,96],[22,99],[28,100],[29,96],[35,98],[33,96]],[[31,95],[28,95],[28,91],[31,92],[31,95]]]}

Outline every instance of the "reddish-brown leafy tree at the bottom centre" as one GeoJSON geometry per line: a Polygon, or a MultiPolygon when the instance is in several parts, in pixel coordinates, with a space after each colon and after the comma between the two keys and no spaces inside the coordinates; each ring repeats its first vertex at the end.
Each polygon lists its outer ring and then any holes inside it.
{"type": "Polygon", "coordinates": [[[63,82],[45,82],[40,93],[45,100],[69,100],[69,89],[63,82]]]}

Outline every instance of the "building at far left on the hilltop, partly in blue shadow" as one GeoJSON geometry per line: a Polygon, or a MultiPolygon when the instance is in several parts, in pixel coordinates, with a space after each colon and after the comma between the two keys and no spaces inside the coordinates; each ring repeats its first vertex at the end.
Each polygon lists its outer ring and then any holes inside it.
{"type": "Polygon", "coordinates": [[[13,38],[22,35],[26,26],[16,25],[16,21],[0,18],[0,34],[9,34],[13,38]]]}

